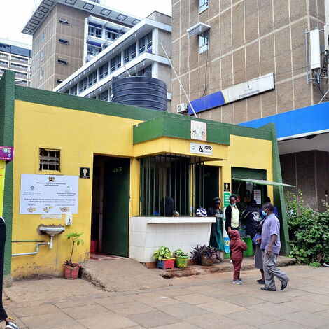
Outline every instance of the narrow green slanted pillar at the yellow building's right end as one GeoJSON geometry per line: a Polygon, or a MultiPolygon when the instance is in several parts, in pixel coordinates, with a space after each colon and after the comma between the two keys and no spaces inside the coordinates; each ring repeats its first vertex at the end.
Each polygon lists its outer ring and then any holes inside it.
{"type": "MultiPolygon", "coordinates": [[[[281,175],[281,165],[279,156],[279,146],[276,139],[276,129],[274,123],[268,123],[262,126],[272,133],[272,155],[273,155],[273,181],[283,183],[281,175]]],[[[286,213],[286,202],[283,193],[283,186],[273,186],[274,200],[273,204],[279,209],[281,214],[281,227],[280,227],[280,239],[281,239],[281,253],[288,254],[290,252],[289,234],[288,234],[288,223],[286,213]]]]}

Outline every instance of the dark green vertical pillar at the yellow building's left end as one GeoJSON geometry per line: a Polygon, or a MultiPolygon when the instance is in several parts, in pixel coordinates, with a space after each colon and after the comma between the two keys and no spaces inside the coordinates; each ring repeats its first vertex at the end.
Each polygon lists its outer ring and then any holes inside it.
{"type": "MultiPolygon", "coordinates": [[[[15,73],[5,71],[0,80],[0,145],[14,146],[15,73]]],[[[4,275],[11,271],[11,239],[13,232],[13,162],[6,162],[3,193],[3,218],[6,220],[7,238],[4,275]]]]}

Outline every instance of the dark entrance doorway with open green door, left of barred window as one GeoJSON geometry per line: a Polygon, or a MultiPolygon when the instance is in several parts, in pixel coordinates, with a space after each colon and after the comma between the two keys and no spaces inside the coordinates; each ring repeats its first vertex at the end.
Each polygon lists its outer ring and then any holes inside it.
{"type": "Polygon", "coordinates": [[[91,239],[96,252],[129,255],[130,159],[94,156],[91,239]]]}

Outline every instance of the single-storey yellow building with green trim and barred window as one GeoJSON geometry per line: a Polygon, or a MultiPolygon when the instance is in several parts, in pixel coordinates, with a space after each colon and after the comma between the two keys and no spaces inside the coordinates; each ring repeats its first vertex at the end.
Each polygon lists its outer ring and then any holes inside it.
{"type": "Polygon", "coordinates": [[[15,152],[2,195],[5,274],[62,274],[69,232],[84,233],[74,261],[90,258],[91,239],[102,253],[140,260],[132,228],[139,232],[139,218],[159,221],[165,197],[174,200],[176,221],[190,223],[214,197],[234,193],[244,207],[257,190],[281,209],[287,251],[283,188],[266,182],[281,183],[274,126],[253,129],[34,90],[15,85],[10,71],[0,97],[1,144],[15,152]],[[39,241],[50,242],[40,225],[65,232],[36,253],[39,241]]]}

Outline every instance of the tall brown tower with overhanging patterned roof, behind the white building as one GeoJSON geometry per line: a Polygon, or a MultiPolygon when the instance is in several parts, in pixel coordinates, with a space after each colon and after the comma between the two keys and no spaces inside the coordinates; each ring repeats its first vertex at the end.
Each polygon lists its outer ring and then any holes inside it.
{"type": "Polygon", "coordinates": [[[42,0],[22,29],[23,33],[33,36],[31,87],[53,90],[83,66],[88,51],[89,55],[95,55],[139,21],[103,6],[102,1],[42,0]],[[104,26],[99,27],[97,22],[88,19],[90,15],[94,20],[104,21],[104,26]],[[93,45],[91,34],[97,38],[100,29],[106,42],[98,47],[93,45]]]}

